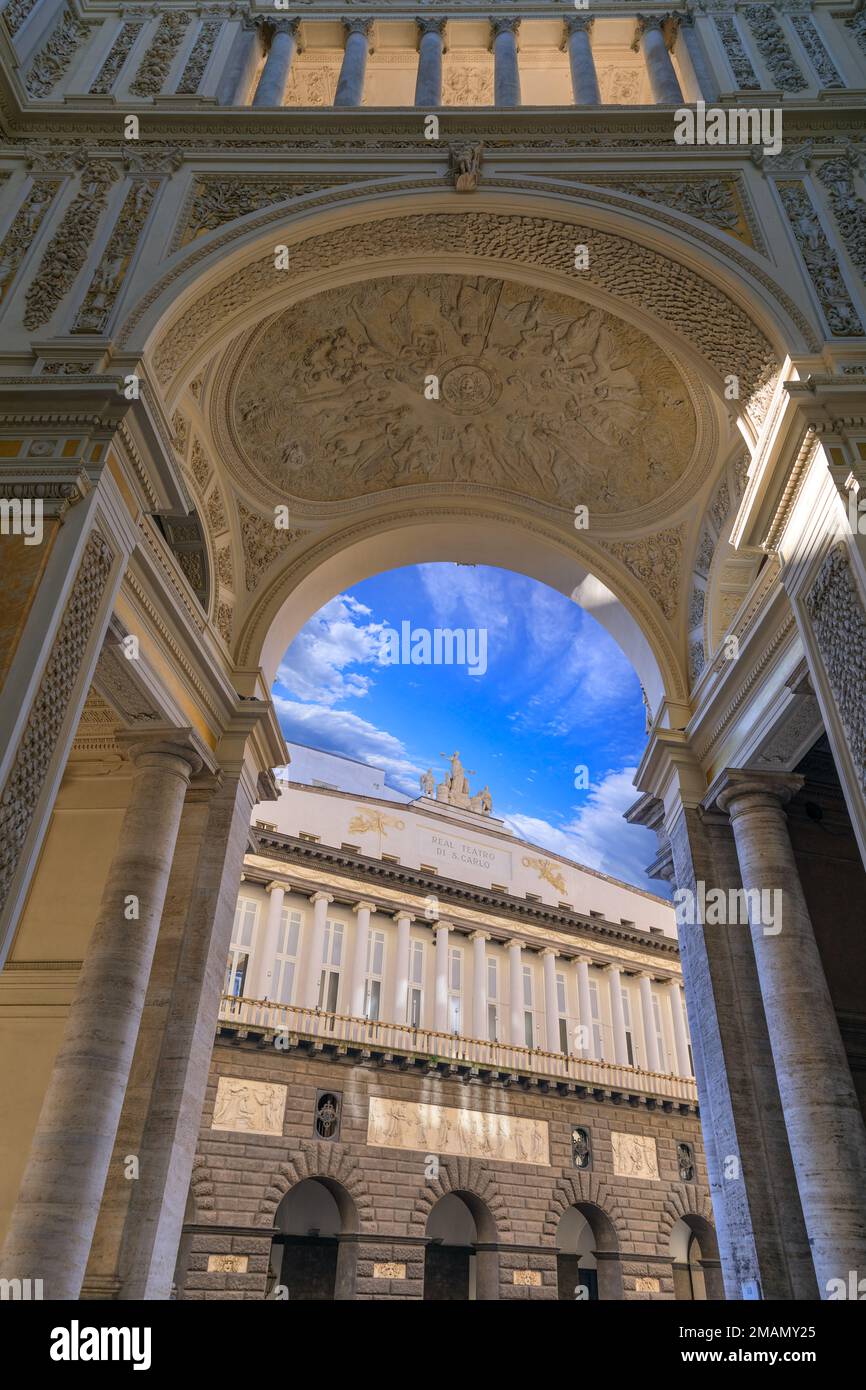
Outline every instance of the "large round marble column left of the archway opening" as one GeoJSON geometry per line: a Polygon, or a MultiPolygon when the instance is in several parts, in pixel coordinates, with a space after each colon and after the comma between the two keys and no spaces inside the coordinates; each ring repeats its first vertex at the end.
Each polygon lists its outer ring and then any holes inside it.
{"type": "Polygon", "coordinates": [[[0,1277],[42,1279],[51,1300],[81,1294],[183,798],[202,767],[190,730],[118,741],[132,792],[0,1257],[0,1277]]]}

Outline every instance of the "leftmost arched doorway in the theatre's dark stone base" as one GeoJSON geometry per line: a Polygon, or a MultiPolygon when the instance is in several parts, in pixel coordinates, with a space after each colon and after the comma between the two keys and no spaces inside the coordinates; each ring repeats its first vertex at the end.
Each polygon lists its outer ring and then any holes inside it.
{"type": "Polygon", "coordinates": [[[354,1293],[357,1213],[349,1193],[324,1177],[306,1177],[274,1215],[268,1297],[291,1302],[332,1302],[354,1293]]]}

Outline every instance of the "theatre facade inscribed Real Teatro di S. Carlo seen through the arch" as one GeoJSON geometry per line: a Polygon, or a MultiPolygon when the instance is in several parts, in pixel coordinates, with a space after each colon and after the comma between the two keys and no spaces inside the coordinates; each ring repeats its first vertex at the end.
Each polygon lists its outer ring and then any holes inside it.
{"type": "Polygon", "coordinates": [[[254,813],[181,1298],[723,1297],[673,909],[466,781],[254,813]]]}

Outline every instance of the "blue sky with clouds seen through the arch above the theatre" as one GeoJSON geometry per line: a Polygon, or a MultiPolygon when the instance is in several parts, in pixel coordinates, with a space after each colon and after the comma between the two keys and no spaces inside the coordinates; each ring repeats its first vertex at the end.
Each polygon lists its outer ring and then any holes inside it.
{"type": "Polygon", "coordinates": [[[473,791],[524,840],[659,892],[655,835],[627,826],[645,745],[638,678],[575,603],[521,574],[418,564],[331,599],[285,655],[274,699],[289,742],[371,762],[398,791],[459,749],[473,791]],[[382,630],[485,628],[487,671],[384,664],[382,630]],[[574,770],[585,766],[587,788],[574,770]]]}

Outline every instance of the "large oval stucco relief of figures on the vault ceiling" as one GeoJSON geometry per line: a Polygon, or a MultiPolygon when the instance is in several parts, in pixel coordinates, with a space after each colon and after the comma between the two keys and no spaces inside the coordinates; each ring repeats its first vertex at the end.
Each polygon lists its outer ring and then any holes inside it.
{"type": "Polygon", "coordinates": [[[279,316],[249,339],[231,420],[281,495],[488,482],[599,513],[659,498],[696,439],[678,370],[637,328],[457,275],[371,281],[279,316]]]}

